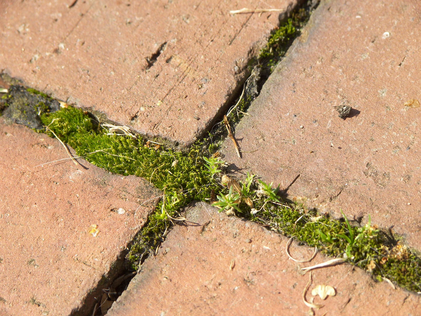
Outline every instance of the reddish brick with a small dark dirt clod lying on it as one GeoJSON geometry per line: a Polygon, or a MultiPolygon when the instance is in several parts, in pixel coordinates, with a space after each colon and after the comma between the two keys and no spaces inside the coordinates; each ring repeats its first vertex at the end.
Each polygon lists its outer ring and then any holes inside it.
{"type": "Polygon", "coordinates": [[[421,4],[324,1],[271,75],[226,160],[289,198],[403,235],[421,249],[421,4]],[[341,119],[333,106],[349,104],[341,119]],[[253,153],[247,151],[257,150],[253,153]]]}

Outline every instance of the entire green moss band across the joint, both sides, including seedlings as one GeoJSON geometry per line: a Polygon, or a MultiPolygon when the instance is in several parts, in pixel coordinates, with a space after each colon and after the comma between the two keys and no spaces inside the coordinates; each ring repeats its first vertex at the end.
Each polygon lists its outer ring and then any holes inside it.
{"type": "MultiPolygon", "coordinates": [[[[350,263],[407,289],[421,289],[420,258],[393,242],[394,238],[370,223],[352,226],[348,220],[332,220],[317,216],[316,212],[304,212],[293,203],[283,205],[276,188],[256,182],[250,175],[244,183],[238,184],[239,189],[233,186],[228,189],[221,185],[221,174],[215,177],[203,159],[203,142],[197,142],[186,152],[155,149],[141,137],[107,135],[88,115],[72,107],[45,113],[41,119],[91,163],[114,173],[144,177],[163,190],[155,213],[149,216],[147,226],[136,236],[128,253],[127,258],[135,269],[145,254],[154,252],[163,241],[170,219],[177,217],[178,209],[193,199],[208,201],[213,190],[222,202],[216,205],[220,210],[267,225],[309,246],[317,246],[330,256],[345,257],[350,263]],[[230,206],[225,207],[224,202],[230,206]]],[[[205,155],[209,157],[209,152],[205,155]]]]}

